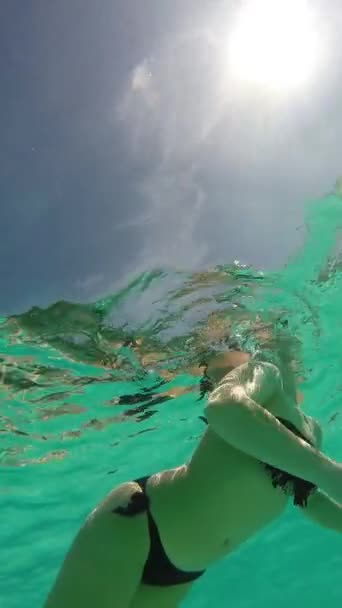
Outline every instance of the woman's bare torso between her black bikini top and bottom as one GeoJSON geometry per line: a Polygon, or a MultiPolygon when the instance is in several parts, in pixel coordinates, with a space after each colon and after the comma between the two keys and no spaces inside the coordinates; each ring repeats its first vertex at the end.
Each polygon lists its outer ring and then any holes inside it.
{"type": "Polygon", "coordinates": [[[234,551],[288,500],[261,463],[210,429],[190,463],[153,476],[148,493],[165,551],[184,570],[205,569],[234,551]]]}

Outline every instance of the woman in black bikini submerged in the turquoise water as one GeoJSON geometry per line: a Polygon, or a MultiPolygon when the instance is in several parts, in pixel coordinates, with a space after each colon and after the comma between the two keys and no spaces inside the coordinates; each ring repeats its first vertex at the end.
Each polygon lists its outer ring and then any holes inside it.
{"type": "Polygon", "coordinates": [[[45,608],[175,608],[289,500],[341,533],[342,465],[320,451],[321,429],[285,376],[245,352],[206,363],[207,426],[190,461],[105,497],[73,541],[45,608]]]}

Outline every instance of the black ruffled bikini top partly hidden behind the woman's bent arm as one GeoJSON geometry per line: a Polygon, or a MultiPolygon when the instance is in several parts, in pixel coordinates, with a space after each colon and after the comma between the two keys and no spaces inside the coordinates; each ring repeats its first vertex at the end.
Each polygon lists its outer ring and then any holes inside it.
{"type": "MultiPolygon", "coordinates": [[[[208,424],[205,416],[200,416],[200,419],[208,424]]],[[[288,420],[284,420],[283,418],[277,418],[281,424],[286,426],[294,435],[304,439],[307,443],[312,445],[312,443],[302,435],[300,431],[295,427],[292,422],[288,420]]],[[[310,481],[306,481],[305,479],[301,479],[300,477],[296,477],[295,475],[291,475],[287,471],[282,471],[281,469],[277,469],[273,467],[271,464],[267,464],[266,462],[262,463],[265,467],[267,473],[269,473],[272,479],[272,486],[274,488],[280,487],[284,491],[289,492],[293,496],[293,504],[298,507],[306,507],[308,498],[310,494],[317,488],[317,486],[310,481]]]]}

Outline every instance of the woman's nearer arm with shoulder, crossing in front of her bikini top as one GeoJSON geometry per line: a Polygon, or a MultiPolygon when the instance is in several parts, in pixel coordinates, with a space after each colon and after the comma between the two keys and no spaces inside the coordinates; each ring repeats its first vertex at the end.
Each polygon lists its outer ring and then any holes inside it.
{"type": "Polygon", "coordinates": [[[278,395],[281,399],[279,370],[271,364],[249,365],[254,367],[232,375],[235,383],[224,382],[210,395],[209,425],[235,448],[314,483],[342,502],[342,465],[294,435],[263,407],[278,395]]]}

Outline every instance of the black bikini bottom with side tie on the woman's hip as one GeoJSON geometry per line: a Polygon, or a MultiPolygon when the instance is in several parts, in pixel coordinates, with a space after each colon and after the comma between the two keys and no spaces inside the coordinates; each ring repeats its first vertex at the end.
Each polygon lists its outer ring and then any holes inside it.
{"type": "Polygon", "coordinates": [[[158,587],[169,587],[172,585],[181,585],[182,583],[190,583],[202,576],[205,570],[185,572],[176,568],[169,560],[162,545],[157,525],[150,511],[150,499],[147,496],[145,489],[148,479],[148,476],[136,479],[135,482],[139,484],[142,492],[134,492],[129,504],[126,507],[117,507],[113,510],[113,513],[118,513],[125,517],[134,517],[134,515],[138,515],[139,513],[147,513],[150,550],[141,578],[142,583],[158,587]]]}

